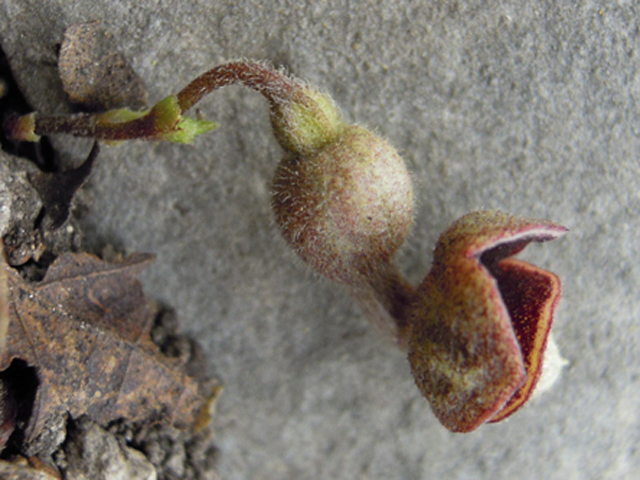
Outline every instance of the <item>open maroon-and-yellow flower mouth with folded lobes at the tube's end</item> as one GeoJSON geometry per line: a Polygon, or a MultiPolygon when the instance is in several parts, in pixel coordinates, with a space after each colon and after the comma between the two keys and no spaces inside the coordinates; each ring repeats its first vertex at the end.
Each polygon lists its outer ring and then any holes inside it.
{"type": "Polygon", "coordinates": [[[418,287],[409,362],[418,388],[448,429],[470,432],[530,398],[560,298],[556,275],[510,258],[567,229],[481,211],[439,239],[418,287]]]}

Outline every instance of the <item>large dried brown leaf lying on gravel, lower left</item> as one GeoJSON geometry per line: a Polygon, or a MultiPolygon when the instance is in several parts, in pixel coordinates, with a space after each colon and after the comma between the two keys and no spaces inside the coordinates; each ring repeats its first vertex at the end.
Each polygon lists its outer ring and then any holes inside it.
{"type": "Polygon", "coordinates": [[[0,370],[14,358],[37,369],[39,386],[25,440],[56,415],[87,415],[191,427],[204,400],[176,360],[149,337],[155,311],[134,277],[153,256],[108,263],[64,254],[41,282],[8,268],[10,325],[0,370]]]}

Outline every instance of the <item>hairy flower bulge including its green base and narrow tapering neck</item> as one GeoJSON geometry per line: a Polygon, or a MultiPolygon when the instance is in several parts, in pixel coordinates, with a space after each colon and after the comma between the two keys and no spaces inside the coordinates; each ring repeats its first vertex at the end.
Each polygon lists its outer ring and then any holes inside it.
{"type": "Polygon", "coordinates": [[[328,95],[271,74],[258,89],[286,152],[273,179],[276,222],[308,265],[347,285],[371,322],[405,348],[414,291],[391,264],[413,217],[404,161],[382,138],[346,125],[328,95]]]}

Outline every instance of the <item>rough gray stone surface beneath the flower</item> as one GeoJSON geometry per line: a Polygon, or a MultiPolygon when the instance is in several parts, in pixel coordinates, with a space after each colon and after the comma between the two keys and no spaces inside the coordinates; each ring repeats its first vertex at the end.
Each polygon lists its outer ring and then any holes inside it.
{"type": "MultiPolygon", "coordinates": [[[[640,471],[640,14],[635,1],[2,0],[0,42],[34,108],[68,108],[55,45],[102,20],[150,101],[239,57],[286,66],[393,143],[418,207],[409,278],[478,208],[571,229],[525,258],[556,272],[569,365],[509,421],[441,427],[408,363],[273,225],[281,155],[265,102],[203,101],[192,146],[106,147],[84,201],[88,248],[158,254],[147,292],[173,305],[226,388],[225,479],[621,479],[640,471]]],[[[56,146],[81,160],[86,143],[56,146]]]]}

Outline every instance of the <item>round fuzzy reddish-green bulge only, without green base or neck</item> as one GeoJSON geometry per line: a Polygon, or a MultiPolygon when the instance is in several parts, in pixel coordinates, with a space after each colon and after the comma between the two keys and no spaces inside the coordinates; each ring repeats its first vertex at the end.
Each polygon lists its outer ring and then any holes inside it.
{"type": "Polygon", "coordinates": [[[386,268],[404,241],[412,222],[411,179],[391,145],[346,126],[324,147],[282,160],[273,209],[285,239],[306,263],[354,285],[386,268]]]}

